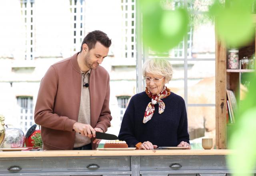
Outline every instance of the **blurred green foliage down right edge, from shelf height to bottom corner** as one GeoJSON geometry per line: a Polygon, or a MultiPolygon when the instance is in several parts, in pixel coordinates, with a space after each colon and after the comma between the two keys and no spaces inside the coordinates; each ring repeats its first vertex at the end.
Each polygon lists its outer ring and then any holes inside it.
{"type": "Polygon", "coordinates": [[[256,73],[247,77],[250,81],[248,94],[240,105],[237,120],[230,136],[230,148],[234,155],[228,156],[228,164],[234,176],[254,176],[250,173],[256,163],[256,73]]]}

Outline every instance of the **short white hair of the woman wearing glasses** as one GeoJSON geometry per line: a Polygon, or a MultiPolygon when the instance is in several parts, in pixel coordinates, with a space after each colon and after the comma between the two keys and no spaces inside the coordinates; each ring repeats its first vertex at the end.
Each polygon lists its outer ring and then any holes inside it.
{"type": "Polygon", "coordinates": [[[166,59],[154,58],[146,60],[142,66],[142,75],[145,78],[146,73],[158,74],[166,78],[166,82],[172,79],[172,65],[166,59]]]}

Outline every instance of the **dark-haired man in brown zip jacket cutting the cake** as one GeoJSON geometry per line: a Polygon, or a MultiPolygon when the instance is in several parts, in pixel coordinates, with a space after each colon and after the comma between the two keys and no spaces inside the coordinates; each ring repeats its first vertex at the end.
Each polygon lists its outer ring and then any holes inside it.
{"type": "Polygon", "coordinates": [[[43,149],[95,150],[95,132],[110,127],[109,74],[99,64],[111,40],[99,30],[89,32],[80,52],[50,66],[41,81],[35,122],[41,125],[43,149]]]}

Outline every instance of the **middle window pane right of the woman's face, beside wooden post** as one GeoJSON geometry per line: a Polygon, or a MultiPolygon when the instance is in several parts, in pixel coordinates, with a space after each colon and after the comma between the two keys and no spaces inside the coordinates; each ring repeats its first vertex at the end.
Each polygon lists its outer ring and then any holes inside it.
{"type": "Polygon", "coordinates": [[[215,61],[188,61],[188,104],[215,104],[215,61]]]}

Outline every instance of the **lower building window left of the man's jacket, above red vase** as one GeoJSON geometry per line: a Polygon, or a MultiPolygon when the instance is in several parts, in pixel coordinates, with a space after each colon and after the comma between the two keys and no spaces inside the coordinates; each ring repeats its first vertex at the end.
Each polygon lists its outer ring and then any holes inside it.
{"type": "Polygon", "coordinates": [[[28,128],[34,124],[34,112],[33,112],[33,97],[32,96],[17,96],[17,104],[19,107],[19,124],[20,128],[24,132],[27,132],[28,128]]]}

